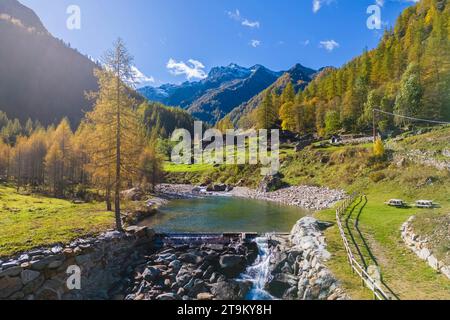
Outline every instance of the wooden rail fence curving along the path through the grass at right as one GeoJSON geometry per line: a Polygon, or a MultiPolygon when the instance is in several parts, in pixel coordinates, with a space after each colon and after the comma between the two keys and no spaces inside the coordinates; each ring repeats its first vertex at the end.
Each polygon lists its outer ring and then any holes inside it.
{"type": "MultiPolygon", "coordinates": [[[[336,210],[336,221],[339,226],[339,232],[344,242],[345,251],[347,252],[347,258],[352,267],[352,271],[356,273],[362,280],[363,285],[369,288],[376,300],[390,300],[390,297],[380,288],[378,283],[372,279],[367,271],[361,266],[361,264],[355,259],[353,252],[350,248],[349,242],[345,235],[344,228],[342,227],[341,216],[345,214],[350,205],[356,200],[357,196],[354,195],[350,199],[345,200],[339,208],[336,210]]],[[[355,244],[356,245],[356,244],[355,244]]]]}

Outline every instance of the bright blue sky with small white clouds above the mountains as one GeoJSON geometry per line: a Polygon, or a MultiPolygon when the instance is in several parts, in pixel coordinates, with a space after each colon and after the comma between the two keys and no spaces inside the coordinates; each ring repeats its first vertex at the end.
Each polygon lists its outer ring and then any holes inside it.
{"type": "Polygon", "coordinates": [[[230,63],[274,71],[296,63],[339,67],[376,47],[417,0],[19,1],[55,37],[95,60],[121,37],[138,86],[159,86],[196,81],[230,63]]]}

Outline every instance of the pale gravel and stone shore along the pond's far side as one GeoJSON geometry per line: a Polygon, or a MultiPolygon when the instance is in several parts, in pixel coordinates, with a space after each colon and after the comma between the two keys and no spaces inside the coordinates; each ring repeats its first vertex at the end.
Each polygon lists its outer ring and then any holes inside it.
{"type": "Polygon", "coordinates": [[[186,199],[202,196],[234,196],[255,200],[277,202],[285,205],[298,206],[304,209],[322,210],[332,207],[336,202],[347,197],[345,191],[312,186],[293,186],[273,192],[265,192],[245,187],[218,185],[217,190],[207,191],[205,187],[192,185],[159,185],[157,191],[170,198],[186,199]],[[219,188],[220,187],[220,188],[219,188]]]}

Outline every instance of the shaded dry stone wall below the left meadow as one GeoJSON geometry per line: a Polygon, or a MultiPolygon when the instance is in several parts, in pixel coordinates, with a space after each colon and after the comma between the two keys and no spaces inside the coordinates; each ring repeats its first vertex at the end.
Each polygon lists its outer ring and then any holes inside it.
{"type": "Polygon", "coordinates": [[[126,231],[0,261],[0,299],[122,299],[115,295],[126,285],[122,275],[151,249],[154,237],[153,230],[145,227],[126,231]]]}

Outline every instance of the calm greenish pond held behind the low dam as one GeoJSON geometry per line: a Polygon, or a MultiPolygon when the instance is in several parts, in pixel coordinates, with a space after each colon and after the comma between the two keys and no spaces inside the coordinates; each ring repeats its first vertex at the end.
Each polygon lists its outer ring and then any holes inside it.
{"type": "Polygon", "coordinates": [[[236,197],[173,200],[141,225],[160,233],[290,232],[310,211],[236,197]]]}

